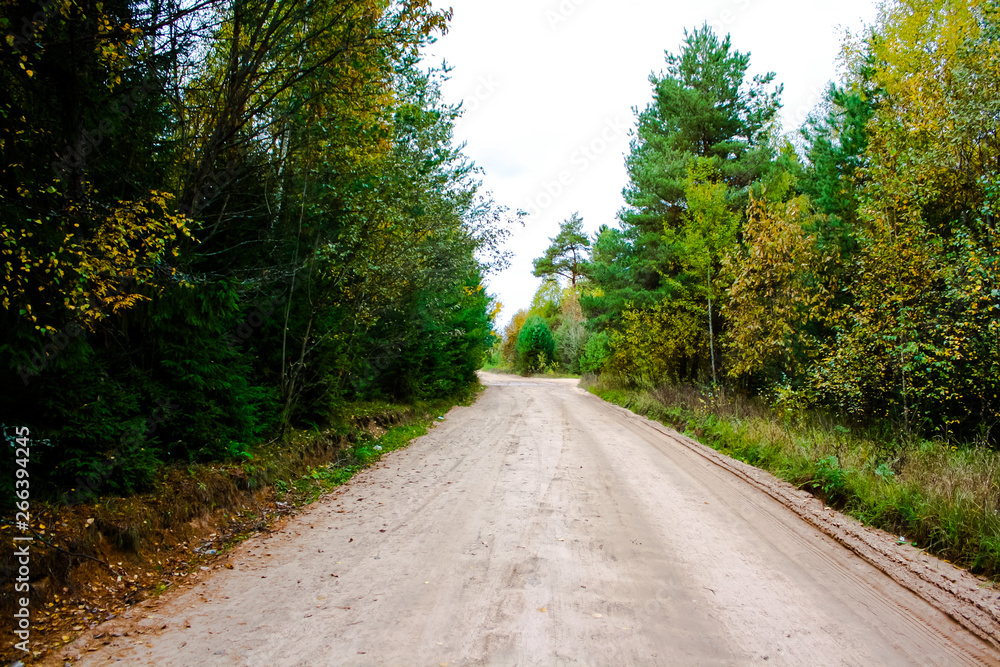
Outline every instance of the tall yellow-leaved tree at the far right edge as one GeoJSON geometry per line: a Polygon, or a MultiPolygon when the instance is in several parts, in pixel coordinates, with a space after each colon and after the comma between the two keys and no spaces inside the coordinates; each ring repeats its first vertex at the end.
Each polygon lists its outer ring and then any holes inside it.
{"type": "Polygon", "coordinates": [[[948,436],[1000,419],[998,28],[991,0],[897,0],[848,45],[855,88],[877,97],[854,302],[815,376],[859,419],[948,436]]]}

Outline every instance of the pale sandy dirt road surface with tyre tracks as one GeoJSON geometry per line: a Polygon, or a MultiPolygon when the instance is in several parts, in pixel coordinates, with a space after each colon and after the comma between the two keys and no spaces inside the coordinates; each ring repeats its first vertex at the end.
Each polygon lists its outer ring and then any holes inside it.
{"type": "Polygon", "coordinates": [[[662,427],[572,381],[483,377],[474,406],[82,663],[997,664],[662,427]]]}

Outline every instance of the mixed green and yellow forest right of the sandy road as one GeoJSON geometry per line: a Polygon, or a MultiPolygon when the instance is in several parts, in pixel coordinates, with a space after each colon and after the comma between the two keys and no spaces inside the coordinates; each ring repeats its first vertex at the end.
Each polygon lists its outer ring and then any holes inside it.
{"type": "Polygon", "coordinates": [[[786,132],[778,75],[687,32],[638,110],[619,220],[562,224],[493,363],[996,446],[998,49],[996,2],[883,3],[786,132]]]}

